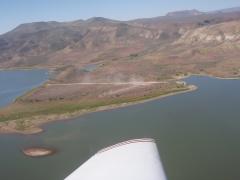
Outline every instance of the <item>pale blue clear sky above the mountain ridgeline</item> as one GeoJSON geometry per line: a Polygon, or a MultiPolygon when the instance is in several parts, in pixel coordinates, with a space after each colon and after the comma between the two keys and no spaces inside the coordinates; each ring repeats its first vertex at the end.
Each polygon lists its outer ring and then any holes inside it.
{"type": "Polygon", "coordinates": [[[0,34],[33,21],[69,21],[96,16],[128,20],[175,10],[210,11],[236,6],[240,6],[240,0],[0,0],[0,34]]]}

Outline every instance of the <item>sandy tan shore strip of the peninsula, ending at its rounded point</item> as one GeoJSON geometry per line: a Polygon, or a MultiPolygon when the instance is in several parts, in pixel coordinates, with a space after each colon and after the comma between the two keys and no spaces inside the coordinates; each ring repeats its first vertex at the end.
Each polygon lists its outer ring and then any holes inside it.
{"type": "Polygon", "coordinates": [[[133,106],[133,105],[137,105],[137,104],[142,104],[142,103],[146,103],[146,102],[150,102],[150,101],[154,101],[154,100],[159,100],[159,99],[169,97],[169,96],[174,96],[174,95],[178,95],[178,94],[184,94],[184,93],[196,91],[198,89],[198,87],[195,85],[188,85],[187,87],[188,87],[187,90],[172,92],[172,93],[170,92],[170,93],[167,93],[164,95],[160,95],[160,96],[156,96],[153,98],[144,99],[144,100],[140,100],[140,101],[135,101],[135,102],[126,102],[126,103],[121,103],[121,104],[100,106],[100,107],[93,108],[93,109],[84,109],[84,110],[80,110],[80,111],[77,111],[74,113],[64,113],[64,114],[60,114],[60,115],[47,115],[47,116],[43,115],[42,118],[45,119],[44,121],[42,121],[42,120],[34,121],[33,120],[32,126],[29,127],[29,129],[23,130],[23,131],[11,128],[11,126],[8,125],[8,124],[11,125],[11,124],[16,123],[17,120],[9,121],[9,122],[2,122],[2,123],[0,123],[0,135],[1,134],[22,134],[22,135],[39,134],[39,133],[44,132],[44,129],[42,126],[47,125],[48,123],[57,122],[57,121],[68,121],[68,120],[72,120],[74,118],[77,118],[77,117],[80,117],[80,116],[83,116],[86,114],[90,114],[90,113],[113,110],[113,109],[133,106]]]}

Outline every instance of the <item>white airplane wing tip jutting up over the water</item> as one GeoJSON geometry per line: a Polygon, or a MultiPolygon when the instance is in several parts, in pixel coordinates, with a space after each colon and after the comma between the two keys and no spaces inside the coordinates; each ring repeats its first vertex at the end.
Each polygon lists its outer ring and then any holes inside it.
{"type": "Polygon", "coordinates": [[[99,151],[65,180],[166,180],[153,139],[125,141],[99,151]]]}

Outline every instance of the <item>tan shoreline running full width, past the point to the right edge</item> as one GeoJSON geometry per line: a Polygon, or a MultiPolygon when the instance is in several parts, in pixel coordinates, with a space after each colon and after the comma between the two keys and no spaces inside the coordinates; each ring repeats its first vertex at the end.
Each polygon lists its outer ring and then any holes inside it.
{"type": "MultiPolygon", "coordinates": [[[[181,75],[175,76],[171,80],[182,81],[182,82],[186,83],[184,80],[186,78],[190,78],[191,76],[209,77],[209,78],[215,78],[215,79],[220,79],[220,80],[240,80],[240,77],[217,77],[217,76],[208,75],[208,74],[194,74],[194,73],[188,73],[187,75],[182,75],[182,76],[181,75]]],[[[43,85],[45,85],[47,82],[48,81],[46,81],[43,85]]],[[[118,109],[118,108],[124,108],[124,107],[128,107],[128,106],[133,106],[133,105],[137,105],[137,104],[142,104],[142,103],[162,99],[162,98],[169,97],[169,96],[192,92],[192,91],[195,91],[198,89],[198,87],[195,85],[187,85],[186,87],[188,88],[187,90],[182,90],[182,91],[177,91],[177,92],[169,92],[169,93],[166,93],[166,94],[163,94],[160,96],[146,98],[146,99],[138,100],[138,101],[126,102],[126,103],[121,103],[121,104],[111,104],[111,105],[107,105],[107,106],[99,106],[99,107],[91,108],[91,109],[82,109],[82,110],[79,110],[79,111],[76,111],[73,113],[36,116],[36,117],[33,117],[32,121],[27,119],[27,122],[30,122],[31,126],[28,126],[25,130],[17,130],[15,128],[14,125],[16,125],[18,120],[0,122],[0,135],[1,134],[22,134],[22,135],[39,134],[39,133],[44,132],[44,128],[42,126],[47,125],[48,123],[57,122],[57,121],[68,121],[68,120],[72,120],[74,118],[78,118],[83,115],[94,113],[94,112],[101,112],[101,111],[113,110],[113,109],[118,109]]]]}

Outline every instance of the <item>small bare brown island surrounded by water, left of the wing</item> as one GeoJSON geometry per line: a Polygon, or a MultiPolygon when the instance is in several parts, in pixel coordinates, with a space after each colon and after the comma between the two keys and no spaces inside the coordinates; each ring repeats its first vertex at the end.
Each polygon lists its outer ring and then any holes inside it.
{"type": "Polygon", "coordinates": [[[56,153],[56,150],[50,148],[26,148],[23,153],[29,157],[44,157],[50,156],[56,153]]]}

